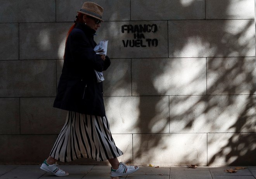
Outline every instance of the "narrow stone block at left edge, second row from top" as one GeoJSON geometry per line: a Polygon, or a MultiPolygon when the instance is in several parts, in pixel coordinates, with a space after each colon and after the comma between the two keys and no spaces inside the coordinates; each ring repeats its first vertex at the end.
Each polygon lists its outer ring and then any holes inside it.
{"type": "Polygon", "coordinates": [[[19,24],[0,24],[0,29],[0,60],[18,60],[19,24]]]}

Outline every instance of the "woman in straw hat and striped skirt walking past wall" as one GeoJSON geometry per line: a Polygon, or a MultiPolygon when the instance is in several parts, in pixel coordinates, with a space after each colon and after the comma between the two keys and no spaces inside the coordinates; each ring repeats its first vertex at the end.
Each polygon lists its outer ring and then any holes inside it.
{"type": "Polygon", "coordinates": [[[97,55],[93,50],[96,46],[93,36],[103,21],[103,8],[85,2],[77,12],[75,24],[67,34],[64,64],[54,101],[54,107],[68,111],[66,123],[40,168],[56,176],[67,176],[57,160],[70,162],[86,157],[108,160],[112,177],[125,176],[139,168],[119,163],[117,159],[123,152],[112,138],[102,82],[96,75],[107,70],[111,63],[108,56],[97,55]]]}

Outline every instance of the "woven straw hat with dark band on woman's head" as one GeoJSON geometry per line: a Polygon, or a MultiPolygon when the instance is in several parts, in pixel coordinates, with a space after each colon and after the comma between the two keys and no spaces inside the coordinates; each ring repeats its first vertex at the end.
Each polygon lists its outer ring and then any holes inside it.
{"type": "Polygon", "coordinates": [[[82,8],[76,12],[81,12],[82,14],[86,14],[101,21],[104,21],[101,19],[103,14],[103,8],[94,2],[83,3],[82,8]]]}

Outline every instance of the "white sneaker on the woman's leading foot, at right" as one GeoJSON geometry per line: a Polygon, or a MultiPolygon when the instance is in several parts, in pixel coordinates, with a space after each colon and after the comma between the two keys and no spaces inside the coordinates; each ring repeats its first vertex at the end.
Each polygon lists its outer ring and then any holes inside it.
{"type": "Polygon", "coordinates": [[[125,175],[132,174],[139,169],[138,166],[125,165],[123,162],[120,162],[118,169],[114,170],[111,167],[111,177],[121,177],[125,175]]]}

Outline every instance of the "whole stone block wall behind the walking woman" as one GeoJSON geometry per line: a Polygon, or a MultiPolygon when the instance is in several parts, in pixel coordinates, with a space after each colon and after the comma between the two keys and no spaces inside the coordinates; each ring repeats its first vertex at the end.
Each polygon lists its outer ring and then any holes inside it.
{"type": "MultiPolygon", "coordinates": [[[[0,0],[0,164],[40,164],[66,33],[83,0],[0,0]]],[[[108,39],[104,102],[120,161],[256,165],[254,0],[95,0],[108,39]]],[[[108,164],[79,159],[71,164],[108,164]]]]}

